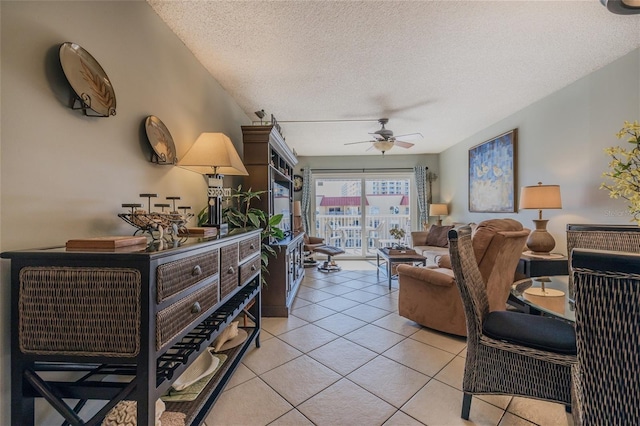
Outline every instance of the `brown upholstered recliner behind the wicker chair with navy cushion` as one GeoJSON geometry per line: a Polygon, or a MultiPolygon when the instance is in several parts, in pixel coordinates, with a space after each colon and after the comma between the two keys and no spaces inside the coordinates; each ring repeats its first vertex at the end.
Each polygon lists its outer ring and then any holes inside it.
{"type": "MultiPolygon", "coordinates": [[[[513,219],[491,219],[478,224],[473,251],[487,285],[489,309],[505,310],[518,260],[529,230],[513,219]]],[[[399,314],[425,327],[467,335],[460,292],[454,281],[449,255],[437,268],[398,265],[399,314]]]]}

